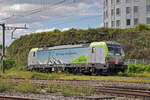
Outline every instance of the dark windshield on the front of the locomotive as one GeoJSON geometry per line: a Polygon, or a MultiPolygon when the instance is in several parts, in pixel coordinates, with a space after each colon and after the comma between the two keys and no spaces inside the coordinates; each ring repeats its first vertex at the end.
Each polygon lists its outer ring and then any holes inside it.
{"type": "Polygon", "coordinates": [[[108,45],[108,51],[113,54],[123,54],[123,50],[120,45],[108,45]]]}

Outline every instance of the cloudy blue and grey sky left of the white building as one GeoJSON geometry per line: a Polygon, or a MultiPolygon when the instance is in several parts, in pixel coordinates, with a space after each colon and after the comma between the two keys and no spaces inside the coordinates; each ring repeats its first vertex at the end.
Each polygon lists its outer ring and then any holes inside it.
{"type": "MultiPolygon", "coordinates": [[[[0,0],[0,23],[28,29],[16,30],[14,38],[25,34],[71,28],[88,29],[103,26],[102,0],[0,0]]],[[[1,30],[0,30],[1,31],[1,30]]],[[[9,46],[11,30],[6,31],[9,46]]],[[[0,32],[1,44],[2,32],[0,32]]]]}

